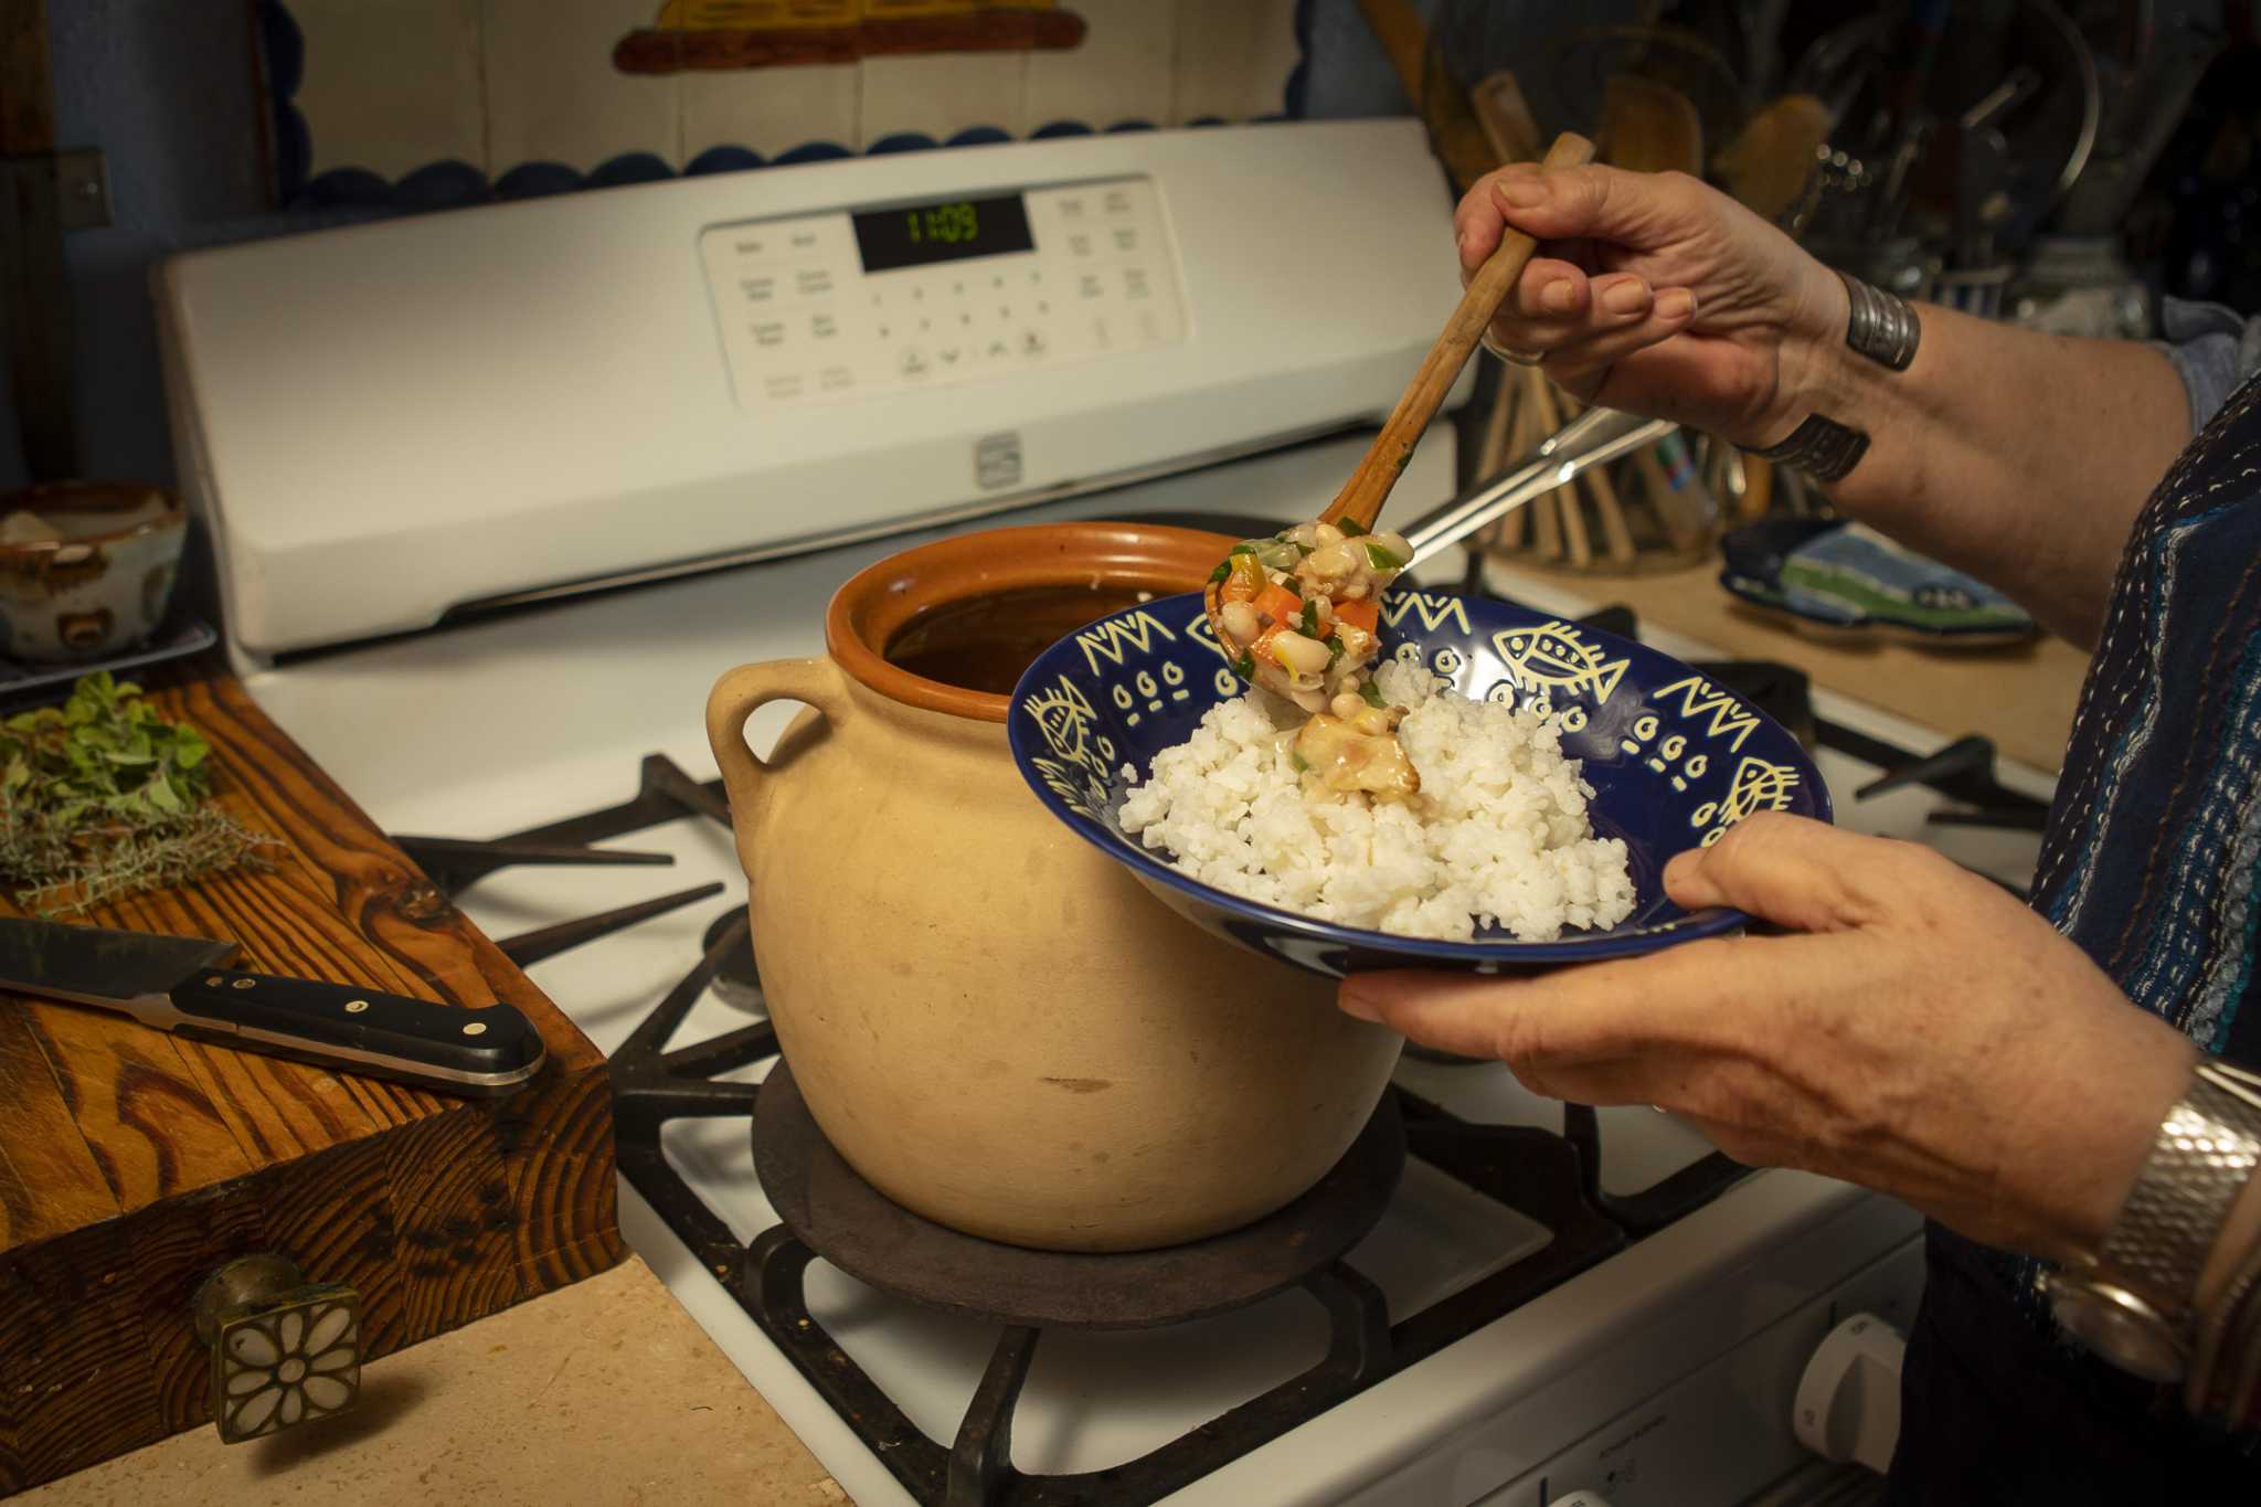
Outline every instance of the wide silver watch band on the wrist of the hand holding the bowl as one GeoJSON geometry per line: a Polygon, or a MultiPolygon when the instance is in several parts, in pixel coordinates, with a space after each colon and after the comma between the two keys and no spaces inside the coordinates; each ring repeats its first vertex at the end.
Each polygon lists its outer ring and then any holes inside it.
{"type": "Polygon", "coordinates": [[[2261,1078],[2200,1062],[2159,1121],[2096,1265],[2141,1290],[2162,1313],[2184,1313],[2229,1204],[2261,1164],[2261,1078]]]}

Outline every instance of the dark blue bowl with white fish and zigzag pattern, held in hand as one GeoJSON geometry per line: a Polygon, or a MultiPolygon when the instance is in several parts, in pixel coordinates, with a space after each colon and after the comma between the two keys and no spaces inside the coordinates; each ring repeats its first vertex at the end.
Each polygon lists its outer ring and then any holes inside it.
{"type": "Polygon", "coordinates": [[[1384,642],[1463,696],[1562,712],[1562,752],[1585,761],[1599,836],[1623,838],[1632,915],[1610,931],[1517,942],[1483,929],[1467,942],[1334,926],[1201,883],[1128,838],[1115,818],[1124,764],[1192,737],[1203,712],[1246,687],[1225,664],[1201,594],[1164,596],[1101,617],[1047,648],[1013,687],[1006,737],[1036,798],[1083,840],[1124,863],[1198,926],[1316,974],[1372,967],[1528,972],[1626,958],[1739,929],[1741,911],[1682,911],[1664,897],[1664,863],[1752,811],[1829,820],[1813,759],[1782,723],[1687,664],[1542,612],[1397,590],[1384,601],[1384,642]]]}

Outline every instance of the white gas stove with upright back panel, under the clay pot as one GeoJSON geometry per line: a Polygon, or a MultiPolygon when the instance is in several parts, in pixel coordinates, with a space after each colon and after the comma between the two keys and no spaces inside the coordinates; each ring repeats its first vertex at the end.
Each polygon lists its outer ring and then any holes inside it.
{"type": "MultiPolygon", "coordinates": [[[[179,450],[253,696],[384,829],[486,838],[633,798],[647,755],[710,779],[712,680],[821,653],[841,581],[936,531],[986,526],[963,522],[977,513],[1311,517],[1363,452],[1354,425],[1395,400],[1452,307],[1445,246],[1449,199],[1418,127],[1359,122],[929,151],[396,221],[185,258],[163,300],[179,450]],[[1366,212],[1334,208],[1345,203],[1366,212]],[[1078,228],[1094,221],[1103,235],[1078,228]],[[1088,307],[1074,303],[1085,276],[1101,289],[1088,307]],[[988,278],[999,285],[981,289],[988,278]],[[1013,278],[1067,291],[972,303],[1013,278]],[[974,291],[950,291],[959,282],[974,291]],[[972,332],[950,337],[947,371],[936,307],[972,332]],[[929,330],[904,341],[904,316],[929,330]],[[977,316],[993,328],[974,330],[977,316]],[[1015,355],[1029,330],[1042,350],[1015,355]],[[794,366],[818,341],[839,346],[794,366]],[[579,590],[590,583],[613,590],[579,590]]],[[[1411,515],[1449,490],[1440,429],[1397,506],[1411,515]]],[[[1461,560],[1427,574],[1458,578],[1461,560]]],[[[1592,606],[1517,576],[1495,587],[1562,615],[1592,606]]],[[[755,748],[787,712],[755,716],[755,748]]],[[[1827,694],[1816,712],[1908,755],[1951,732],[1827,694]]],[[[1840,822],[1933,843],[2010,883],[2030,874],[2030,836],[1931,825],[1942,798],[1924,786],[1861,802],[1877,768],[1818,757],[1840,822]]],[[[2033,770],[1999,777],[2046,800],[2033,770]]],[[[726,886],[529,969],[608,1053],[744,901],[712,820],[613,845],[674,863],[509,868],[459,899],[506,938],[726,886]]],[[[676,1044],[753,1019],[708,992],[676,1044]]],[[[1497,1064],[1409,1057],[1397,1082],[1467,1121],[1562,1127],[1560,1105],[1497,1064]]],[[[1651,1109],[1599,1123],[1608,1195],[1709,1152],[1651,1109]]],[[[776,1222],[744,1118],[669,1125],[665,1152],[739,1240],[776,1222]]],[[[857,1502],[916,1500],[631,1186],[622,1222],[857,1502]]],[[[1807,1358],[1843,1315],[1908,1319],[1917,1234],[1888,1200],[1750,1175],[1167,1500],[1802,1500],[1779,1482],[1813,1460],[1791,1428],[1807,1358]]],[[[1549,1238],[1415,1159],[1348,1263],[1404,1317],[1549,1238]]],[[[823,1261],[807,1301],[947,1446],[999,1326],[823,1261]]],[[[1300,1292],[1158,1331],[1049,1331],[1013,1464],[1058,1475],[1137,1460],[1325,1344],[1300,1292]]]]}

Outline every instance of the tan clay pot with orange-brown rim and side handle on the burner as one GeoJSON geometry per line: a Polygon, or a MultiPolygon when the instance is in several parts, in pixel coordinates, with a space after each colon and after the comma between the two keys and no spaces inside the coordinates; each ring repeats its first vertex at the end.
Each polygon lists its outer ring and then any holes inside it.
{"type": "Polygon", "coordinates": [[[1083,1252],[1235,1229],[1341,1159],[1397,1060],[1327,981],[1196,931],[1054,820],[1004,694],[886,657],[941,608],[1183,592],[1228,547],[1130,524],[922,545],[839,590],[825,657],[708,698],[785,1057],[841,1157],[941,1225],[1083,1252]],[[807,712],[755,759],[771,700],[807,712]]]}

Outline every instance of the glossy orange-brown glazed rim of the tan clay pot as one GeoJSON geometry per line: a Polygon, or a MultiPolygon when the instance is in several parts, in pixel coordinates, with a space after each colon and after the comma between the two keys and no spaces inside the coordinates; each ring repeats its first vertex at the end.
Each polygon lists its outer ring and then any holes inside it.
{"type": "Polygon", "coordinates": [[[1232,535],[1160,524],[1020,524],[918,545],[850,576],[825,608],[825,651],[864,687],[927,712],[1004,723],[1011,696],[913,676],[884,657],[916,617],[954,601],[1045,585],[1201,590],[1232,535]]]}

